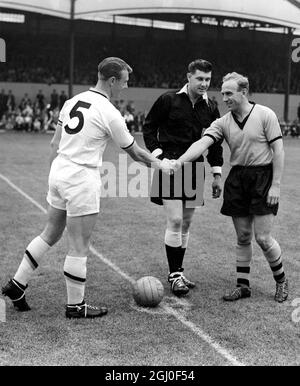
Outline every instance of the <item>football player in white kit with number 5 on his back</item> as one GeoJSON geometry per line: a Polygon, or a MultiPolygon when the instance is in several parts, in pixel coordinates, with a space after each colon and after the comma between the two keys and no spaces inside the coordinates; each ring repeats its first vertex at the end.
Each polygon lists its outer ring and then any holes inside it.
{"type": "Polygon", "coordinates": [[[25,300],[28,281],[67,227],[66,317],[94,318],[107,313],[106,307],[91,306],[84,300],[90,237],[100,209],[99,167],[106,144],[112,138],[134,160],[147,166],[163,169],[168,162],[159,161],[136,144],[121,113],[110,102],[127,88],[131,72],[120,58],[104,59],[98,66],[96,86],[67,100],[60,112],[51,141],[47,223],[27,246],[13,279],[2,288],[19,311],[30,310],[25,300]]]}

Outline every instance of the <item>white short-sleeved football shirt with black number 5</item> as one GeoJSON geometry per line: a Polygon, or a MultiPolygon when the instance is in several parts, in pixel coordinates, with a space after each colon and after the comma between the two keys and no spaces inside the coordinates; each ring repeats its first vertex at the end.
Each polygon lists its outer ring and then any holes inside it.
{"type": "Polygon", "coordinates": [[[108,98],[93,88],[67,100],[58,125],[58,154],[80,165],[98,167],[110,138],[122,149],[134,143],[125,120],[108,98]]]}

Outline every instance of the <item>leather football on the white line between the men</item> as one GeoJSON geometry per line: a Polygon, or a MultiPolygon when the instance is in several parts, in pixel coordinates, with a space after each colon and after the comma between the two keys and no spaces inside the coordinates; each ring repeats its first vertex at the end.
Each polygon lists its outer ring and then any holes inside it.
{"type": "Polygon", "coordinates": [[[133,298],[139,306],[156,307],[164,296],[164,286],[153,276],[144,276],[133,286],[133,298]]]}

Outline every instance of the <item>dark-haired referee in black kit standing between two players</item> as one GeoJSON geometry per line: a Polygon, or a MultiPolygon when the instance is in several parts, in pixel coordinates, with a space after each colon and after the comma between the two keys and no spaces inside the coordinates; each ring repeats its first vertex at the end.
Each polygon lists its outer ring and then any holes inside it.
{"type": "MultiPolygon", "coordinates": [[[[143,125],[146,147],[160,159],[177,159],[205,128],[220,117],[219,110],[207,96],[212,65],[197,59],[188,65],[188,82],[179,91],[161,95],[153,104],[143,125]]],[[[208,149],[207,160],[212,167],[213,197],[221,195],[223,148],[217,142],[208,149]]],[[[163,205],[167,227],[165,249],[169,264],[168,281],[176,296],[185,295],[195,283],[183,275],[183,258],[189,240],[189,228],[197,206],[203,203],[204,158],[185,165],[174,176],[154,172],[151,201],[163,205]]]]}

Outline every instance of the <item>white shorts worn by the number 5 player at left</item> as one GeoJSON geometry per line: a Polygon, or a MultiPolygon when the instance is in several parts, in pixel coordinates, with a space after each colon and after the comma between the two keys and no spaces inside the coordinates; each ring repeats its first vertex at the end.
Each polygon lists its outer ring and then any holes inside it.
{"type": "Polygon", "coordinates": [[[98,168],[78,165],[61,156],[52,162],[47,202],[67,216],[99,213],[101,177],[98,168]]]}

